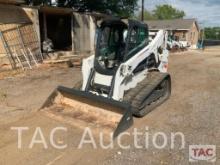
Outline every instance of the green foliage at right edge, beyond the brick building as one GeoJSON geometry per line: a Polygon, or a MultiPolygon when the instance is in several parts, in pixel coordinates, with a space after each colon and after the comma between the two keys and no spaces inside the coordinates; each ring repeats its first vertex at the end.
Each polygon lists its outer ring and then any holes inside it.
{"type": "Polygon", "coordinates": [[[205,28],[205,39],[220,40],[220,27],[205,28]]]}

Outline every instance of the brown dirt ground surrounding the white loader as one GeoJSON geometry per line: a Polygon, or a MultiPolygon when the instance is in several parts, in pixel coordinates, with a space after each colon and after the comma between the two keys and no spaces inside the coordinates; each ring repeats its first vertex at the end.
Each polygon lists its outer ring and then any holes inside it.
{"type": "MultiPolygon", "coordinates": [[[[115,146],[104,150],[91,145],[78,149],[83,134],[66,121],[48,117],[38,109],[58,85],[72,87],[81,79],[79,69],[47,68],[19,73],[16,77],[0,80],[0,164],[11,165],[53,165],[53,164],[167,164],[186,165],[189,163],[189,145],[216,145],[217,160],[220,164],[220,49],[188,51],[172,54],[169,58],[169,72],[172,76],[171,98],[144,118],[135,118],[134,128],[150,135],[164,132],[182,132],[185,148],[181,142],[171,149],[135,148],[132,137],[125,136],[124,144],[129,149],[115,146]],[[29,127],[22,134],[22,148],[18,149],[17,133],[11,127],[29,127]],[[55,127],[66,127],[67,132],[58,131],[57,144],[68,144],[65,149],[55,149],[49,143],[49,134],[55,127]],[[29,149],[36,127],[42,129],[48,148],[36,144],[29,149]]],[[[38,137],[39,138],[39,137],[38,137]]],[[[141,136],[139,144],[146,139],[141,136]]],[[[160,140],[159,140],[160,143],[160,140]]],[[[207,164],[200,162],[199,164],[207,164]]]]}

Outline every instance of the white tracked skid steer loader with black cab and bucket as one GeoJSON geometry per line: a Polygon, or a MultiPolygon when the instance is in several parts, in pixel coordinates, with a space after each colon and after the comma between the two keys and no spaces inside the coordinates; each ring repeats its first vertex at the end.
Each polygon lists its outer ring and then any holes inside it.
{"type": "Polygon", "coordinates": [[[169,98],[167,33],[149,40],[148,26],[108,19],[98,27],[95,55],[83,60],[83,81],[59,86],[41,109],[75,126],[94,127],[117,137],[169,98]]]}

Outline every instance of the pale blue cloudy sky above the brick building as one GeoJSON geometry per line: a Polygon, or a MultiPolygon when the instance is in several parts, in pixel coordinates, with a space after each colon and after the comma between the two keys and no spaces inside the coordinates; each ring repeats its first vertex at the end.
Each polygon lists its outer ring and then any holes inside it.
{"type": "Polygon", "coordinates": [[[161,4],[185,11],[185,18],[196,18],[202,27],[220,26],[220,0],[145,0],[145,9],[153,10],[161,4]]]}

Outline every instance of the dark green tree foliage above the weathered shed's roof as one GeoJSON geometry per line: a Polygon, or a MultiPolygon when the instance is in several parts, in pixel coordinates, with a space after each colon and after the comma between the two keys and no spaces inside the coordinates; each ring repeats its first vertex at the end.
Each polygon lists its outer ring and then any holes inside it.
{"type": "MultiPolygon", "coordinates": [[[[57,0],[58,7],[74,7],[79,11],[97,11],[129,17],[137,9],[138,0],[57,0]]],[[[26,0],[28,5],[51,5],[51,0],[26,0]]]]}

